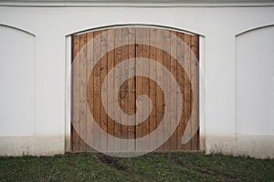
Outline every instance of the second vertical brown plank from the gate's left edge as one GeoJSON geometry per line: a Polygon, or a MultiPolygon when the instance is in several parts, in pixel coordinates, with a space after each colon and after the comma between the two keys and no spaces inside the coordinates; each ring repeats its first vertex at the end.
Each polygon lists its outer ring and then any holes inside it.
{"type": "Polygon", "coordinates": [[[80,39],[79,57],[79,150],[86,150],[87,136],[87,34],[82,34],[80,39]]]}

